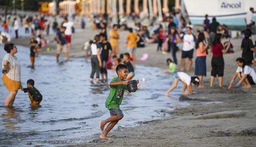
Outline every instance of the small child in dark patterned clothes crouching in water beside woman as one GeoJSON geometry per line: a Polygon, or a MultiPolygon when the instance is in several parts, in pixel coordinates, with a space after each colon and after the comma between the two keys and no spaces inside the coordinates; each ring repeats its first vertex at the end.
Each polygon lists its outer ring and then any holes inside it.
{"type": "Polygon", "coordinates": [[[33,79],[29,79],[27,81],[27,88],[23,88],[24,93],[28,92],[29,93],[29,99],[31,101],[32,106],[38,106],[42,99],[43,96],[41,93],[34,87],[35,81],[33,79]]]}

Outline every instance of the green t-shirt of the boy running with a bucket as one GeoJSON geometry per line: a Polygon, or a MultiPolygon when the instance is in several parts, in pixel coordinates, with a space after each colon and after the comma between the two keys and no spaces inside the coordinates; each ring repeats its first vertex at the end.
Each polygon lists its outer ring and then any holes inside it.
{"type": "MultiPolygon", "coordinates": [[[[119,82],[118,77],[114,77],[111,82],[119,82]]],[[[110,86],[110,92],[108,98],[105,102],[105,106],[108,109],[118,108],[121,105],[122,98],[124,96],[125,90],[128,90],[125,85],[115,85],[110,86]]]]}

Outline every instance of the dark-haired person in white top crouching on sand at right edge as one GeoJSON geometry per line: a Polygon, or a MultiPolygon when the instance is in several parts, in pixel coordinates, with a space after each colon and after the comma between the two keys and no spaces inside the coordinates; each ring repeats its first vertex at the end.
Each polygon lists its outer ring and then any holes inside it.
{"type": "Polygon", "coordinates": [[[236,73],[234,73],[234,76],[230,82],[229,89],[231,88],[234,80],[236,79],[236,76],[238,76],[240,79],[236,86],[239,86],[241,83],[243,83],[243,88],[251,88],[251,85],[255,85],[256,72],[254,71],[254,69],[249,64],[246,65],[246,62],[243,58],[237,58],[236,64],[238,65],[238,68],[236,69],[236,73]]]}

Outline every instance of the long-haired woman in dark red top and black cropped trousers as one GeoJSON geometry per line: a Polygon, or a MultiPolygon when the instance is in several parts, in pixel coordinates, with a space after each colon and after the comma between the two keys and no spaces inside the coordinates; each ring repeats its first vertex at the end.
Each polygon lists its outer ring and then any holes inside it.
{"type": "Polygon", "coordinates": [[[230,43],[227,43],[226,48],[221,44],[221,34],[216,34],[212,42],[212,71],[210,87],[212,88],[215,77],[218,75],[219,87],[222,88],[222,81],[224,76],[224,59],[223,54],[226,54],[230,43]]]}

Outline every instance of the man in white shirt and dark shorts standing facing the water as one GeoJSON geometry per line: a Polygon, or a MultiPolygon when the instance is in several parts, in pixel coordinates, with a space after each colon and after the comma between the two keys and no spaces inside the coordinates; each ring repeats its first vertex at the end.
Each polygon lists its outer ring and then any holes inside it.
{"type": "Polygon", "coordinates": [[[189,58],[188,71],[190,71],[192,66],[192,58],[195,48],[195,36],[192,34],[192,28],[186,27],[187,34],[183,37],[183,48],[181,54],[181,71],[185,70],[186,58],[189,58]]]}

